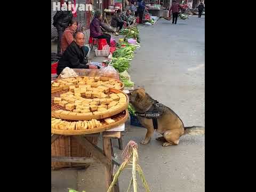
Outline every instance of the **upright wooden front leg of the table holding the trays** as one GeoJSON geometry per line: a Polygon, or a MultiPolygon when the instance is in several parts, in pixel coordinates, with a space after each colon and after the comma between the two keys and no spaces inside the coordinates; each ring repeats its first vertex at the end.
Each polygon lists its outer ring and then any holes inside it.
{"type": "MultiPolygon", "coordinates": [[[[111,155],[111,141],[108,137],[103,137],[103,153],[106,156],[106,158],[111,161],[112,155],[111,155]]],[[[113,181],[113,163],[107,167],[105,167],[105,175],[106,175],[106,189],[109,188],[111,182],[113,181]]],[[[115,192],[114,189],[111,192],[115,192]]]]}

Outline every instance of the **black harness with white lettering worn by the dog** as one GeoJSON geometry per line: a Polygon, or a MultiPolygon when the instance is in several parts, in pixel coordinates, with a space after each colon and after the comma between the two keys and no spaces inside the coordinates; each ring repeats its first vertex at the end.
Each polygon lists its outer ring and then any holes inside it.
{"type": "Polygon", "coordinates": [[[153,126],[154,129],[157,130],[158,125],[157,125],[157,118],[162,117],[162,113],[164,111],[164,106],[159,103],[157,100],[154,101],[154,104],[152,107],[150,107],[149,110],[147,110],[145,113],[135,113],[138,116],[145,117],[145,118],[151,118],[153,121],[153,126]]]}

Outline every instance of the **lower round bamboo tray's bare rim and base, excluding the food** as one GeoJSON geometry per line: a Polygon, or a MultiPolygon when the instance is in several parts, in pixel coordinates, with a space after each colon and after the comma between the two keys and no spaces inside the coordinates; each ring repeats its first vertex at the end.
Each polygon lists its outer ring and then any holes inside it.
{"type": "MultiPolygon", "coordinates": [[[[122,113],[119,113],[117,115],[111,116],[111,119],[114,119],[116,122],[107,124],[105,121],[100,120],[102,127],[99,128],[93,128],[93,129],[86,129],[86,130],[58,130],[58,129],[52,129],[52,133],[54,134],[61,134],[61,135],[83,135],[83,134],[92,134],[92,133],[99,133],[103,131],[107,131],[109,129],[113,129],[113,127],[116,127],[118,125],[121,125],[126,122],[128,118],[128,110],[125,109],[122,113]]],[[[73,122],[73,121],[70,121],[73,122]]]]}

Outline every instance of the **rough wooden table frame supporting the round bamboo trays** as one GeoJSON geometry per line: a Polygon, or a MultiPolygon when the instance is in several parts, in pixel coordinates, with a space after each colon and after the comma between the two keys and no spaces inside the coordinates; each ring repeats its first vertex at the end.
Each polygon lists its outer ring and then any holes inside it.
{"type": "MultiPolygon", "coordinates": [[[[78,76],[100,76],[99,69],[74,69],[78,76]]],[[[58,77],[58,79],[60,76],[58,77]]],[[[113,77],[119,79],[119,74],[116,73],[116,76],[113,77]]],[[[99,137],[100,133],[94,134],[86,134],[86,135],[70,135],[69,137],[73,137],[77,140],[77,142],[85,148],[87,151],[93,154],[93,157],[53,157],[52,162],[68,162],[68,163],[101,163],[104,166],[105,172],[105,180],[106,180],[106,191],[108,190],[111,182],[113,181],[113,175],[115,170],[117,170],[117,166],[119,163],[115,160],[114,152],[113,152],[113,145],[111,139],[118,139],[119,141],[119,148],[122,143],[121,140],[121,132],[115,131],[106,131],[102,132],[103,138],[103,150],[101,150],[98,146],[93,145],[89,142],[86,137],[99,137]]],[[[60,137],[59,134],[52,134],[51,136],[51,143],[53,143],[56,139],[60,137]]],[[[113,192],[119,192],[119,185],[118,181],[113,189],[113,192]]]]}

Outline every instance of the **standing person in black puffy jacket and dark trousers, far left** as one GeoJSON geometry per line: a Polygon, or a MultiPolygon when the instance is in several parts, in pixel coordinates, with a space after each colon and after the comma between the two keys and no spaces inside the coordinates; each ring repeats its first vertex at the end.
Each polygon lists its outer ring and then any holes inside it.
{"type": "MultiPolygon", "coordinates": [[[[68,1],[66,1],[68,6],[68,1]]],[[[72,11],[57,11],[57,13],[53,17],[52,25],[57,28],[58,31],[58,47],[57,52],[61,54],[61,37],[64,30],[68,27],[68,23],[72,20],[73,14],[72,11]]]]}

